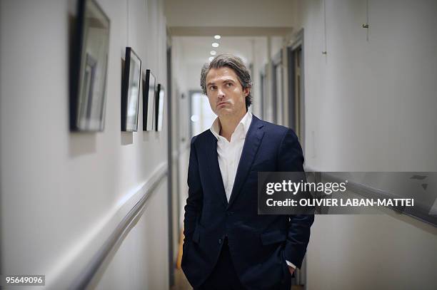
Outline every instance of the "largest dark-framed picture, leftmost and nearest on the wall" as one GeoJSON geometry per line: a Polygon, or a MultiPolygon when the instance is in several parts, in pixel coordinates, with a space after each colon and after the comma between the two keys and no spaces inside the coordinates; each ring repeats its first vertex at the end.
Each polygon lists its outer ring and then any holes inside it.
{"type": "Polygon", "coordinates": [[[110,21],[96,1],[79,0],[78,4],[76,50],[71,59],[70,129],[103,131],[110,21]]]}

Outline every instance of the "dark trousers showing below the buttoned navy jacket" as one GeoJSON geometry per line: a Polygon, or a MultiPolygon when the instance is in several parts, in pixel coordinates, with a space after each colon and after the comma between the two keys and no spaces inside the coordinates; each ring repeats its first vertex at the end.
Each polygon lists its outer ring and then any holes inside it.
{"type": "MultiPolygon", "coordinates": [[[[275,287],[274,290],[290,290],[291,280],[284,281],[283,284],[275,287]]],[[[223,247],[221,248],[220,257],[212,273],[206,279],[204,284],[194,290],[249,290],[244,287],[235,268],[233,267],[231,253],[229,252],[228,239],[224,239],[223,247]]]]}

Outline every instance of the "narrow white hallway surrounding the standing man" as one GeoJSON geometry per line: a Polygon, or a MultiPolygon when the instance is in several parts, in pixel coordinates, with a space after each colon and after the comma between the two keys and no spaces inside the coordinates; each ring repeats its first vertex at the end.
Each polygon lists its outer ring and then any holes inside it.
{"type": "Polygon", "coordinates": [[[221,53],[306,172],[423,188],[417,210],[316,214],[291,289],[436,289],[436,15],[435,0],[1,0],[1,289],[192,289],[190,145],[216,119],[200,77],[221,53]]]}

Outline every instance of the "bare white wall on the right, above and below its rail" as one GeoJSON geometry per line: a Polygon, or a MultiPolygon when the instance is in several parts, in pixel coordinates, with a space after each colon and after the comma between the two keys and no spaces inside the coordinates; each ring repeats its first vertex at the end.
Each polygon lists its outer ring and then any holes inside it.
{"type": "MultiPolygon", "coordinates": [[[[437,170],[436,1],[301,5],[306,165],[325,171],[437,170]]],[[[307,289],[435,289],[437,230],[394,214],[317,216],[307,289]]]]}

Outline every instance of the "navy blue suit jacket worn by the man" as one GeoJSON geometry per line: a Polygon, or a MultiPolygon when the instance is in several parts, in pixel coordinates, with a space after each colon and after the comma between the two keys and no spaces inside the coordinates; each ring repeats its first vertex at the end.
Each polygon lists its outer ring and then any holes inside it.
{"type": "Polygon", "coordinates": [[[248,289],[271,289],[291,279],[286,260],[301,267],[314,216],[258,215],[258,172],[275,171],[303,172],[301,145],[293,130],[253,115],[228,202],[217,139],[210,130],[192,138],[181,263],[192,286],[200,286],[214,269],[225,237],[248,289]]]}

